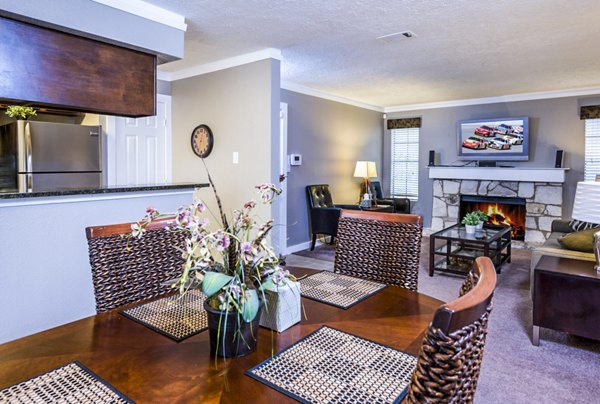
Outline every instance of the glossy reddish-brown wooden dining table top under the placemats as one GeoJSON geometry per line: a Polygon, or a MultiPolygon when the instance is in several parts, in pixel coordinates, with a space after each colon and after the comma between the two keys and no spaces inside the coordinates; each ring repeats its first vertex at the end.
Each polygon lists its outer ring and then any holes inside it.
{"type": "Polygon", "coordinates": [[[1,344],[0,389],[77,360],[138,403],[294,401],[244,372],[322,325],[417,355],[443,302],[390,286],[347,310],[302,303],[307,318],[282,333],[260,327],[254,352],[226,360],[211,357],[208,331],[175,342],[111,310],[1,344]]]}

